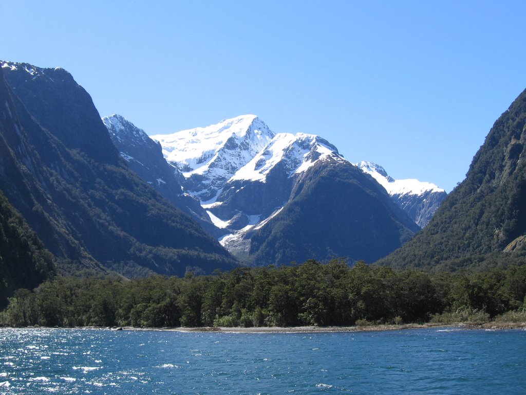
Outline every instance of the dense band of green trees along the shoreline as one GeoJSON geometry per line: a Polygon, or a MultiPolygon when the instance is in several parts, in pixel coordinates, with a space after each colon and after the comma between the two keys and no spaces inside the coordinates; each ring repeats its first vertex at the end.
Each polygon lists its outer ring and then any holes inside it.
{"type": "Polygon", "coordinates": [[[58,327],[526,321],[525,294],[526,265],[430,274],[309,260],[184,278],[56,276],[17,290],[0,320],[58,327]]]}

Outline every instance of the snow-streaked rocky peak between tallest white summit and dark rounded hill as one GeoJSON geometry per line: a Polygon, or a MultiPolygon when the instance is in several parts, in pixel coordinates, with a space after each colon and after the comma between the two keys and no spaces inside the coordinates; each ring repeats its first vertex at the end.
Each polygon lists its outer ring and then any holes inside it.
{"type": "Polygon", "coordinates": [[[232,243],[260,228],[291,199],[301,174],[318,162],[332,158],[346,162],[335,146],[316,135],[279,133],[224,184],[213,203],[205,204],[210,217],[230,233],[232,243]]]}

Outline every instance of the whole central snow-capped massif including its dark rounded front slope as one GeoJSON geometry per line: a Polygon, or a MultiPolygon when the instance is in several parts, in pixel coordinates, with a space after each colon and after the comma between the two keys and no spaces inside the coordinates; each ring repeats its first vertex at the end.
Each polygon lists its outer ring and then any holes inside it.
{"type": "Polygon", "coordinates": [[[245,115],[151,137],[222,230],[221,244],[246,262],[371,262],[418,231],[385,189],[319,136],[275,134],[245,115]]]}

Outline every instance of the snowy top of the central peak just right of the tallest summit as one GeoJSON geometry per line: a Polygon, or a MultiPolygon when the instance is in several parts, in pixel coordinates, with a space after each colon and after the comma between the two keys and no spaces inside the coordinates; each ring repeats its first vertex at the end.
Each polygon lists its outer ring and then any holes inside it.
{"type": "Polygon", "coordinates": [[[289,176],[302,173],[319,160],[335,157],[345,161],[335,146],[319,136],[305,133],[278,133],[274,139],[250,162],[230,179],[265,182],[269,172],[280,163],[289,176]]]}

